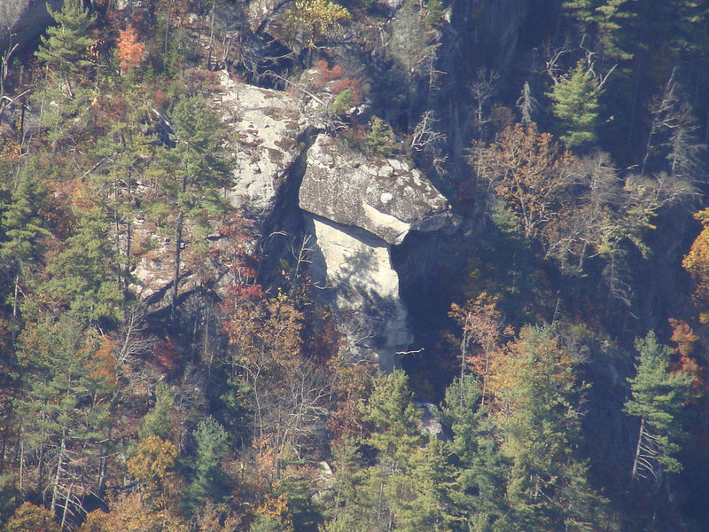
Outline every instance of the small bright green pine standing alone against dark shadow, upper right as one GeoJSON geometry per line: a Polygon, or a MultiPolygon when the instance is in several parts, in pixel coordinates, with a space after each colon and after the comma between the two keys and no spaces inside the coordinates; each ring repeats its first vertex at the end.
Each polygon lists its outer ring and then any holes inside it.
{"type": "Polygon", "coordinates": [[[557,119],[559,138],[566,147],[588,147],[597,141],[598,97],[601,90],[580,60],[570,75],[549,93],[551,112],[557,119]]]}

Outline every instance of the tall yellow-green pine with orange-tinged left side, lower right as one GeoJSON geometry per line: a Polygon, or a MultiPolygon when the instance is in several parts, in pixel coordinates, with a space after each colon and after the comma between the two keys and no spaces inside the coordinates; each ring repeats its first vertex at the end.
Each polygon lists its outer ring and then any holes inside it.
{"type": "Polygon", "coordinates": [[[500,530],[612,530],[608,501],[588,484],[577,456],[579,390],[570,356],[549,327],[525,327],[495,358],[491,389],[503,413],[497,424],[510,459],[500,530]]]}

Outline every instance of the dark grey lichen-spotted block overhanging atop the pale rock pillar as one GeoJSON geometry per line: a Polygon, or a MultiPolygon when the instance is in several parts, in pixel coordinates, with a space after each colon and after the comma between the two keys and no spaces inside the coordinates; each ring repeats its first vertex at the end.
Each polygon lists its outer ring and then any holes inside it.
{"type": "Polygon", "coordinates": [[[439,229],[449,215],[446,199],[408,161],[365,157],[324,135],[308,150],[300,208],[394,245],[411,230],[439,229]]]}

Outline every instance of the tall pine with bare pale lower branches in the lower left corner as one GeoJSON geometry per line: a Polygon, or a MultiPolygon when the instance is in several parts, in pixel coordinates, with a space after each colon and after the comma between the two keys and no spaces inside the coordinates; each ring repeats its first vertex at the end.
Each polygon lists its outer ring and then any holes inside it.
{"type": "MultiPolygon", "coordinates": [[[[19,338],[24,393],[17,401],[25,469],[62,526],[102,489],[106,432],[116,381],[101,339],[70,317],[28,324],[19,338]]],[[[75,520],[74,520],[75,522],[75,520]]]]}

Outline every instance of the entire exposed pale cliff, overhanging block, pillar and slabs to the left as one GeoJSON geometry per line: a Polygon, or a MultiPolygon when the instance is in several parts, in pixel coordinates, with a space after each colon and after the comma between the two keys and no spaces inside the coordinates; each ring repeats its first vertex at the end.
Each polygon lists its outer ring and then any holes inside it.
{"type": "MultiPolygon", "coordinates": [[[[222,90],[212,100],[232,137],[227,198],[253,223],[253,246],[268,239],[274,219],[297,217],[311,237],[311,277],[322,288],[318,292],[330,305],[347,350],[391,369],[396,353],[413,340],[391,248],[409,231],[434,231],[448,223],[447,201],[408,160],[365,155],[316,135],[316,119],[301,113],[299,102],[285,92],[222,74],[222,90]],[[298,196],[302,210],[284,191],[298,196]],[[293,212],[282,212],[287,209],[293,212]]],[[[192,257],[189,223],[186,233],[183,297],[205,284],[218,292],[225,269],[213,259],[192,257]]],[[[168,304],[172,244],[139,221],[135,234],[152,241],[151,251],[137,259],[135,289],[152,309],[160,309],[168,304]]],[[[210,239],[224,244],[216,233],[210,239]]]]}

